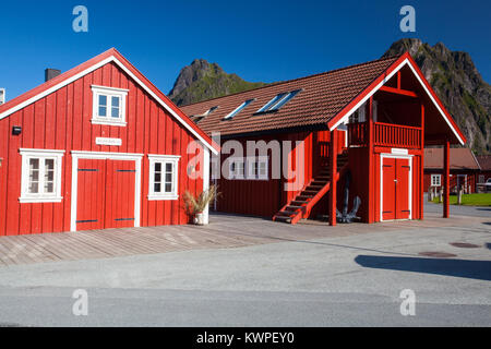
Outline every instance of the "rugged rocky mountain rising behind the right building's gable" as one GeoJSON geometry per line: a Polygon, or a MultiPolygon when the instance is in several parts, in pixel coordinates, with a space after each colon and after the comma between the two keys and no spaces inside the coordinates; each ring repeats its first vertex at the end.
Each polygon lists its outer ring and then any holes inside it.
{"type": "Polygon", "coordinates": [[[477,154],[491,153],[491,86],[467,52],[420,39],[402,39],[383,55],[409,51],[477,154]]]}

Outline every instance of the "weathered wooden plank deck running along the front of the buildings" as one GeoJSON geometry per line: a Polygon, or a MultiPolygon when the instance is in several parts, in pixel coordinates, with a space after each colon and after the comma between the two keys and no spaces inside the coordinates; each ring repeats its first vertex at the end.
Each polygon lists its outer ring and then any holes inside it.
{"type": "MultiPolygon", "coordinates": [[[[211,224],[204,227],[163,226],[0,237],[0,267],[195,249],[230,249],[384,230],[466,225],[466,219],[463,217],[442,219],[440,216],[427,216],[423,221],[350,224],[330,227],[327,224],[312,220],[290,226],[261,218],[212,215],[211,224]]],[[[468,219],[476,221],[479,218],[468,219]]]]}

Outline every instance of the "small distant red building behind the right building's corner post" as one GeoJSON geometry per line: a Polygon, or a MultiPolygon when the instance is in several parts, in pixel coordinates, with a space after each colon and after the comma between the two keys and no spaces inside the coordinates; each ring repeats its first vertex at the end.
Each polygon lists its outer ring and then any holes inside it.
{"type": "MultiPolygon", "coordinates": [[[[424,149],[423,190],[433,188],[440,191],[443,186],[443,149],[424,149]]],[[[480,167],[469,148],[451,148],[450,190],[456,193],[462,188],[466,194],[476,193],[480,167]]]]}

